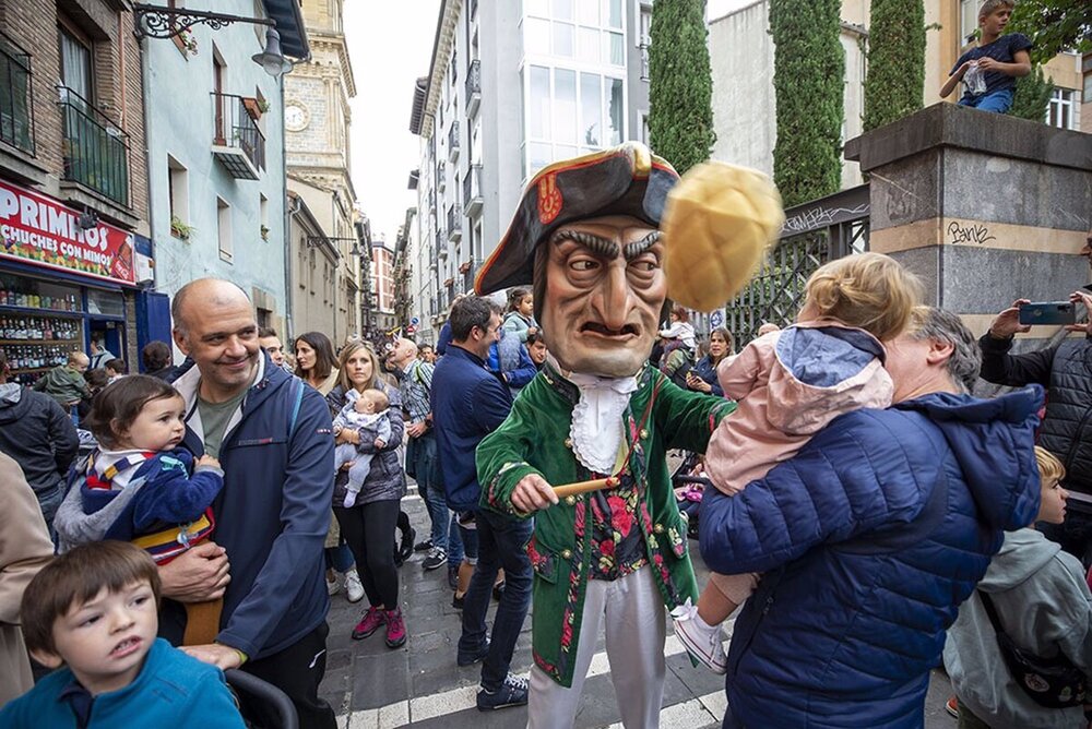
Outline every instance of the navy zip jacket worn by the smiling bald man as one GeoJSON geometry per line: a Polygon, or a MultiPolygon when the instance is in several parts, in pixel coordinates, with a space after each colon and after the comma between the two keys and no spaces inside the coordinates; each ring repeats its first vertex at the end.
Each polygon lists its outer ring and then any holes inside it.
{"type": "MultiPolygon", "coordinates": [[[[264,351],[258,379],[221,444],[224,489],[213,503],[213,541],[227,550],[232,582],[218,643],[253,658],[278,653],[313,631],[330,609],[322,546],[333,503],[334,439],[317,390],[274,367],[264,351]]],[[[175,381],[195,405],[199,372],[175,381]]],[[[188,418],[183,444],[204,453],[188,418]]],[[[166,632],[166,631],[164,631],[166,632]]],[[[175,637],[175,636],[170,636],[175,637]]]]}

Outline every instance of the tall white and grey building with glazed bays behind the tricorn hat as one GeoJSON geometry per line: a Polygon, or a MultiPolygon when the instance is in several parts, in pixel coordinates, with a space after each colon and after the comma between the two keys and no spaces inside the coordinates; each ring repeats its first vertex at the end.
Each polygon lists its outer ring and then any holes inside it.
{"type": "Polygon", "coordinates": [[[422,153],[407,268],[420,340],[435,340],[451,300],[472,290],[531,176],[646,141],[651,17],[640,0],[443,0],[411,115],[422,153]]]}

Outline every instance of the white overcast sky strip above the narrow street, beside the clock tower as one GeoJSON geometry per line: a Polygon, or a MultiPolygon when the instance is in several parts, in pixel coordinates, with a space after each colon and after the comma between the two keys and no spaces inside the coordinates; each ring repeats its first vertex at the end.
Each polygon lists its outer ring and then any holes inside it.
{"type": "Polygon", "coordinates": [[[410,133],[414,81],[428,74],[440,0],[345,1],[345,39],[356,79],[352,100],[353,184],[373,236],[393,242],[407,207],[406,189],[418,165],[410,133]]]}

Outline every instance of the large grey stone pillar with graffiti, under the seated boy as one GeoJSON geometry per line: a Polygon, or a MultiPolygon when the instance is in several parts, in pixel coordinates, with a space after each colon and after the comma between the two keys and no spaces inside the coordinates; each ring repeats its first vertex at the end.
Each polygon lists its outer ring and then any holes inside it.
{"type": "Polygon", "coordinates": [[[1092,279],[1077,254],[1092,228],[1090,134],[937,104],[850,140],[845,157],[870,179],[870,250],[976,335],[1013,299],[1063,300],[1092,279]]]}

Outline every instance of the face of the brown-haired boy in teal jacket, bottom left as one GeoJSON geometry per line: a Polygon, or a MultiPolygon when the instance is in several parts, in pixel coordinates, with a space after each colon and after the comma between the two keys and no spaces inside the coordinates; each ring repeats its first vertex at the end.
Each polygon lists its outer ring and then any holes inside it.
{"type": "Polygon", "coordinates": [[[33,652],[48,668],[67,664],[92,695],[123,689],[144,666],[158,629],[155,595],[147,582],[117,593],[102,590],[54,622],[56,654],[33,652]]]}

